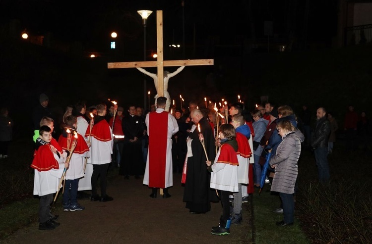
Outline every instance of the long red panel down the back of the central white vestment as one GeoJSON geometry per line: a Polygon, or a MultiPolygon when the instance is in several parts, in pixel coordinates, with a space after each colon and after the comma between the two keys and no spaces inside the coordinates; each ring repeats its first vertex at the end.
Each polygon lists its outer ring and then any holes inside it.
{"type": "Polygon", "coordinates": [[[168,112],[149,114],[149,187],[165,188],[168,112]]]}

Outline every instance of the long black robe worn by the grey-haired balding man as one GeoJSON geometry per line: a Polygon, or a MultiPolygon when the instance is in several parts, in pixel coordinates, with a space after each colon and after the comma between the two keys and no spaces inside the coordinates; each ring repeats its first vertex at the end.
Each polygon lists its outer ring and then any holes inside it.
{"type": "MultiPolygon", "coordinates": [[[[216,147],[214,146],[214,136],[212,127],[204,117],[199,121],[200,131],[204,136],[205,149],[209,161],[214,161],[216,157],[216,147]]],[[[207,169],[206,157],[203,146],[199,141],[199,131],[196,128],[188,136],[192,139],[192,157],[187,158],[187,173],[184,192],[186,208],[190,212],[205,213],[210,211],[210,202],[217,201],[216,192],[209,188],[210,173],[207,169]]]]}

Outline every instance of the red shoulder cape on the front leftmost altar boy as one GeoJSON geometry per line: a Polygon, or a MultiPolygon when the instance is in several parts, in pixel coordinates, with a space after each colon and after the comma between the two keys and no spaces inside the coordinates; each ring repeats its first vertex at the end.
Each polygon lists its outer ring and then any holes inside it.
{"type": "Polygon", "coordinates": [[[59,169],[59,163],[54,158],[50,144],[39,147],[39,149],[36,151],[34,160],[32,160],[31,168],[37,169],[38,171],[59,169]]]}

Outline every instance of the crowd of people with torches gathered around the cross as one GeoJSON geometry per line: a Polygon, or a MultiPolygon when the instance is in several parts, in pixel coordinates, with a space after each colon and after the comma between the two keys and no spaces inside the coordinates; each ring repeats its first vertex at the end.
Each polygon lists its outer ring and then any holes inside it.
{"type": "MultiPolygon", "coordinates": [[[[183,201],[191,214],[206,213],[211,202],[221,201],[219,225],[211,229],[214,235],[229,235],[231,224],[241,224],[242,204],[248,202],[254,188],[263,187],[262,179],[270,182],[271,191],[281,198],[280,208],[274,211],[283,213],[283,221],[276,224],[293,225],[297,162],[304,147],[314,151],[319,181],[326,183],[330,178],[327,155],[333,152],[338,124],[324,107],[316,110],[312,127],[307,106],[295,114],[290,106],[269,101],[252,111],[241,102],[216,111],[213,106],[199,109],[191,101],[188,109],[171,106],[172,113],[166,111],[169,102],[165,97],[158,97],[148,111],[135,105],[125,111],[111,103],[87,107],[76,102],[66,107],[56,140],[49,98],[41,94],[39,102],[33,113],[36,149],[31,167],[35,169],[34,195],[41,197],[40,230],[60,225],[55,221],[58,216],[50,212],[50,204],[63,179],[64,211],[84,210],[77,199],[78,193],[87,190],[91,191],[91,201],[114,200],[107,194],[110,165],[119,167],[119,175],[127,180],[143,175],[152,198],[157,198],[158,189],[163,198],[171,197],[168,190],[173,186],[173,174],[182,174],[183,201]],[[77,145],[72,148],[74,140],[77,145]],[[266,161],[271,166],[267,172],[262,171],[266,161]]],[[[1,109],[1,116],[6,118],[7,110],[1,109]]],[[[8,119],[5,125],[2,117],[1,133],[2,127],[13,124],[8,119]]],[[[350,106],[344,125],[347,146],[353,149],[358,129],[367,134],[366,113],[358,119],[350,106]]],[[[367,143],[363,146],[367,148],[367,143]]],[[[7,155],[3,144],[1,150],[1,156],[7,155]]]]}

